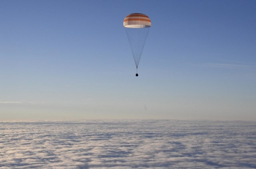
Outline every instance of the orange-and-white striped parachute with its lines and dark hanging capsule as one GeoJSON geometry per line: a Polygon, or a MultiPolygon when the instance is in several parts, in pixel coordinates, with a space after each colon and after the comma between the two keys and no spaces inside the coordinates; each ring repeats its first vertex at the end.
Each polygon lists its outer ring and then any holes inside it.
{"type": "Polygon", "coordinates": [[[136,65],[136,76],[138,76],[138,66],[140,57],[148,36],[151,20],[145,14],[134,13],[124,18],[124,28],[129,40],[130,48],[136,65]]]}

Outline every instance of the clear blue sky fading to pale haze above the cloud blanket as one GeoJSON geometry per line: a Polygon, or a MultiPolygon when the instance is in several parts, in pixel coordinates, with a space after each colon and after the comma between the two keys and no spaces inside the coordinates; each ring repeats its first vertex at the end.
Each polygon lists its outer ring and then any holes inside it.
{"type": "Polygon", "coordinates": [[[0,121],[256,120],[255,0],[1,0],[0,121]],[[152,27],[138,67],[123,27],[152,27]]]}

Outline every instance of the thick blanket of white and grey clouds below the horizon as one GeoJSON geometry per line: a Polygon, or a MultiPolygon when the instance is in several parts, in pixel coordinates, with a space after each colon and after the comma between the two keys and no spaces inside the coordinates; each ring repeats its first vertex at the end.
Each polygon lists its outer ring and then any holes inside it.
{"type": "Polygon", "coordinates": [[[255,121],[0,122],[0,169],[256,168],[255,121]]]}

